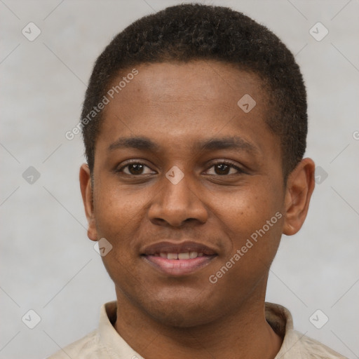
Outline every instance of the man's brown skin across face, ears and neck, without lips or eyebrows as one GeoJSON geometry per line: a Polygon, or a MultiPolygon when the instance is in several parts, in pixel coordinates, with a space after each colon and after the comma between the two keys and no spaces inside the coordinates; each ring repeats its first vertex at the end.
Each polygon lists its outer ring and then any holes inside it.
{"type": "Polygon", "coordinates": [[[267,96],[255,74],[201,60],[136,68],[139,74],[104,109],[93,188],[88,165],[80,170],[88,237],[113,246],[102,259],[116,285],[114,327],[147,359],[274,358],[282,338],[264,316],[269,267],[282,233],[297,233],[304,222],[315,165],[303,159],[284,182],[280,140],[264,122],[267,96]],[[257,104],[246,114],[237,102],[247,93],[257,104]],[[135,136],[158,151],[109,150],[118,137],[135,136]],[[194,146],[233,136],[252,151],[194,146]],[[123,168],[128,160],[143,170],[123,168]],[[240,171],[223,170],[224,160],[240,171]],[[172,166],[184,174],[178,184],[165,177],[172,166]],[[210,283],[276,212],[283,215],[278,222],[210,283]],[[140,256],[162,240],[198,241],[217,256],[189,275],[165,275],[140,256]]]}

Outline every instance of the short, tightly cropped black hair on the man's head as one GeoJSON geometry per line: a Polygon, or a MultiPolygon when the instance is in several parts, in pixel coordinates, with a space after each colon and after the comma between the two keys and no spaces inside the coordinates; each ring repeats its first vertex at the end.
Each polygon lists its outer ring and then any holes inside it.
{"type": "Polygon", "coordinates": [[[306,88],[299,66],[264,25],[231,8],[203,4],[170,6],[140,18],[116,35],[97,58],[81,114],[91,174],[102,117],[96,106],[111,81],[135,65],[190,60],[218,60],[259,76],[269,98],[265,121],[280,137],[286,179],[306,149],[306,88]]]}

